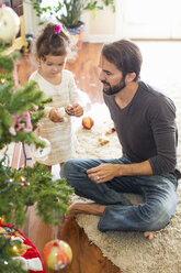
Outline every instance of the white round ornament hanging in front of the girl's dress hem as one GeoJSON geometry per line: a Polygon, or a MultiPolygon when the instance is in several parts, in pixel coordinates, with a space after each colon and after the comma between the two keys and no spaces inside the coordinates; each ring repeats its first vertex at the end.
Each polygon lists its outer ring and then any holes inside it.
{"type": "Polygon", "coordinates": [[[38,136],[38,139],[41,141],[43,141],[45,143],[45,148],[36,148],[35,145],[33,145],[33,159],[35,161],[45,161],[48,156],[48,154],[50,153],[50,142],[47,139],[44,139],[42,136],[38,136]]]}

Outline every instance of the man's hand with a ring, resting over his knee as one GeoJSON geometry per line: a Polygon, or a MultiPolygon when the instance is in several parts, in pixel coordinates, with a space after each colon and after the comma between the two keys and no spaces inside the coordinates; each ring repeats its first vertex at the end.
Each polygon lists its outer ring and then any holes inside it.
{"type": "Polygon", "coordinates": [[[88,177],[95,183],[104,183],[120,176],[121,165],[118,164],[101,164],[87,171],[88,177]]]}

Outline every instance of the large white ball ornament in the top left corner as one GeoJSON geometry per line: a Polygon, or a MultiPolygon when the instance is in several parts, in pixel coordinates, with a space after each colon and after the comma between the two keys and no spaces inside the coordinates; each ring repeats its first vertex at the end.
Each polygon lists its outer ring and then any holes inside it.
{"type": "Polygon", "coordinates": [[[0,8],[0,42],[11,42],[20,29],[20,18],[9,7],[0,8]]]}

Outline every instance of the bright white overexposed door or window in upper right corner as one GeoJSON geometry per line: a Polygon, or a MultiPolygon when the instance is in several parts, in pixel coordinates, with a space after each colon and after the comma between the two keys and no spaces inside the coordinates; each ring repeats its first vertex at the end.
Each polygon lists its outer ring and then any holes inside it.
{"type": "Polygon", "coordinates": [[[181,39],[180,0],[121,0],[122,30],[131,39],[181,39]]]}

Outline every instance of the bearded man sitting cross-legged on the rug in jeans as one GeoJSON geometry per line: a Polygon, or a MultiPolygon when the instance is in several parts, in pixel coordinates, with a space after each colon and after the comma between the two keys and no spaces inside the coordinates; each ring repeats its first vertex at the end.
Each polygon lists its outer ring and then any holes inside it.
{"type": "Polygon", "coordinates": [[[106,44],[100,57],[103,96],[123,156],[70,160],[61,168],[75,193],[95,204],[73,204],[70,214],[100,215],[98,228],[156,231],[177,207],[177,125],[173,102],[139,80],[142,54],[131,41],[106,44]],[[142,194],[133,206],[121,193],[142,194]]]}

